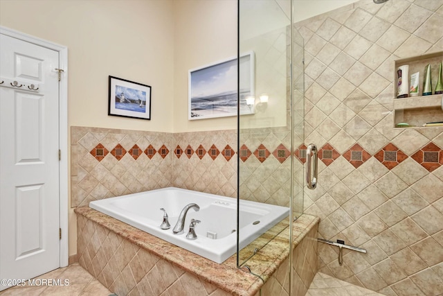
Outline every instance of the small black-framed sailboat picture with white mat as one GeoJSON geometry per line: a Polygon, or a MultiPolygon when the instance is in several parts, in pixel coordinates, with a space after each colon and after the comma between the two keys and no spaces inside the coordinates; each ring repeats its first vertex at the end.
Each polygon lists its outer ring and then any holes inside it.
{"type": "Polygon", "coordinates": [[[109,76],[108,115],[151,119],[151,87],[109,76]]]}

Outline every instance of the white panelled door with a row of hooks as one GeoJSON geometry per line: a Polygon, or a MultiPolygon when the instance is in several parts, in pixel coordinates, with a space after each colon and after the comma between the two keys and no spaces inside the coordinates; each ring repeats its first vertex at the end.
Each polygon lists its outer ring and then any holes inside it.
{"type": "Polygon", "coordinates": [[[0,35],[0,279],[60,267],[58,66],[57,51],[0,35]]]}

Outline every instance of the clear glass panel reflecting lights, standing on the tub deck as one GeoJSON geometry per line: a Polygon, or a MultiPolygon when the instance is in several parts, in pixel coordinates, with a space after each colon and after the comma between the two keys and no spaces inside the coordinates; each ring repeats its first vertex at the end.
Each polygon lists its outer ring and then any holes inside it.
{"type": "Polygon", "coordinates": [[[261,276],[254,255],[276,237],[289,254],[290,225],[302,214],[303,162],[296,155],[304,141],[303,40],[292,28],[289,0],[239,0],[238,13],[239,56],[253,53],[254,65],[250,76],[240,59],[238,197],[287,209],[259,238],[239,245],[237,265],[261,276]],[[253,89],[242,92],[251,77],[253,89]],[[251,112],[242,113],[242,105],[251,112]]]}

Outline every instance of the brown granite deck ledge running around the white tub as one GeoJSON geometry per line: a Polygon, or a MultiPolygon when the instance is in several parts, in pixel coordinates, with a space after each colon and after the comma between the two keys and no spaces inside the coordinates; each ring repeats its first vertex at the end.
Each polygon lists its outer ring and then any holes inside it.
{"type": "MultiPolygon", "coordinates": [[[[80,216],[86,218],[80,219],[83,221],[80,223],[86,225],[87,220],[91,220],[93,223],[97,223],[109,230],[109,232],[118,234],[118,236],[130,243],[147,250],[160,259],[172,263],[176,267],[231,295],[257,295],[260,288],[264,285],[264,281],[273,275],[275,270],[289,255],[287,248],[287,237],[289,236],[282,233],[281,236],[274,238],[247,262],[251,270],[262,277],[260,279],[260,277],[238,269],[236,255],[230,256],[224,263],[215,263],[89,207],[78,207],[75,209],[75,213],[78,214],[78,218],[80,216]]],[[[300,216],[293,225],[293,247],[296,247],[307,232],[315,227],[318,222],[319,218],[314,216],[306,214],[300,216]]],[[[82,227],[82,225],[79,226],[80,228],[82,227]]],[[[287,229],[287,232],[289,232],[289,229],[287,229]]],[[[79,247],[86,246],[78,246],[78,249],[80,249],[79,247]]],[[[98,279],[100,280],[100,277],[98,279]]]]}

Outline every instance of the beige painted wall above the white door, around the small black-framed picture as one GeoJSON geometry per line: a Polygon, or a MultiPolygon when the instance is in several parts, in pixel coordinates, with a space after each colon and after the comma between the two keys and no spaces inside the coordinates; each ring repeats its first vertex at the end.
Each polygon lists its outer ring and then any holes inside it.
{"type": "Polygon", "coordinates": [[[172,130],[172,1],[0,1],[0,24],[68,47],[69,125],[172,130]],[[108,76],[152,86],[152,120],[107,115],[108,76]]]}

